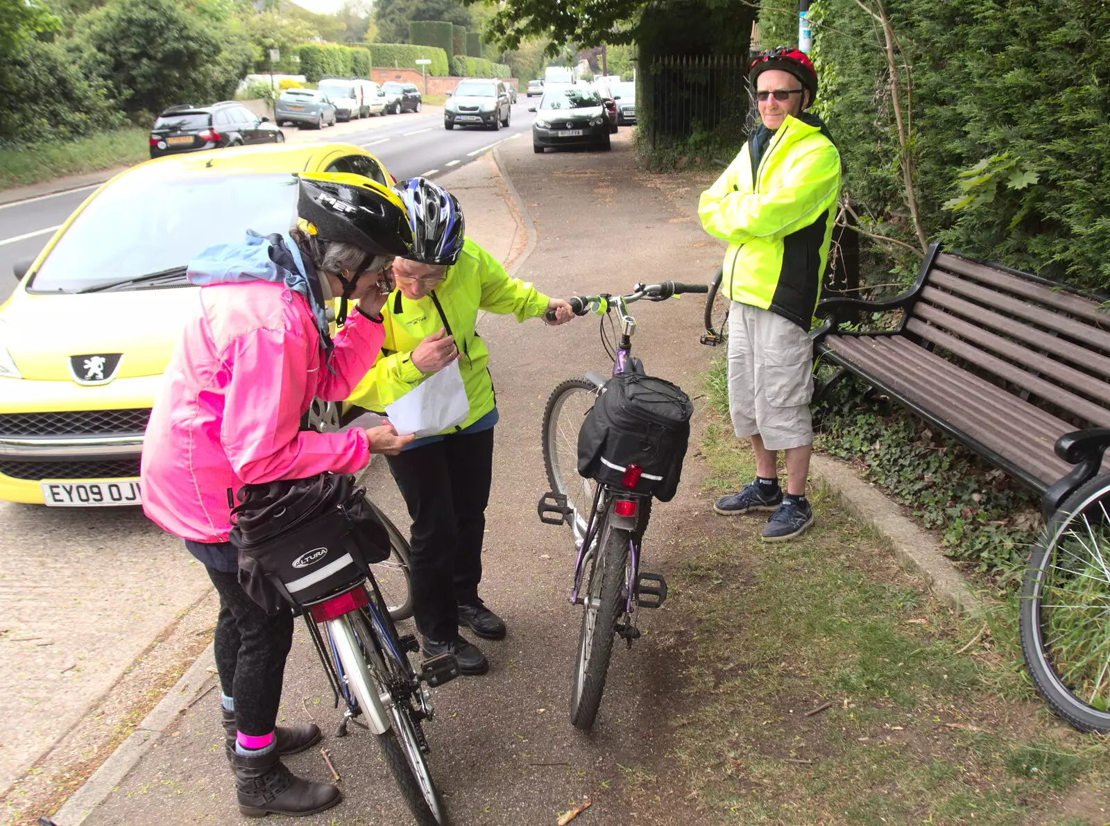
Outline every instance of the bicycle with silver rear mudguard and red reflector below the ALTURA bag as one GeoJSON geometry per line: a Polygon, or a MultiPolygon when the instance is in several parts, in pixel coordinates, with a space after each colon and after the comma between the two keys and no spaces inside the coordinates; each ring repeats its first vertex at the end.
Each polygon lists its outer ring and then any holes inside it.
{"type": "MultiPolygon", "coordinates": [[[[379,508],[374,510],[381,515],[379,508]]],[[[383,522],[393,553],[403,546],[407,558],[404,537],[384,516],[383,522]]],[[[447,812],[428,770],[426,757],[431,749],[421,724],[435,715],[428,686],[454,679],[458,664],[453,654],[441,654],[425,659],[418,674],[413,669],[408,654],[418,652],[420,643],[412,634],[397,633],[392,616],[395,606],[385,601],[374,575],[379,565],[371,566],[364,580],[311,603],[297,603],[287,591],[285,596],[297,605],[304,618],[335,707],[340,699],[345,704],[335,736],[346,736],[349,723],[376,735],[418,826],[445,826],[447,812]]],[[[407,591],[405,600],[411,610],[407,591]]]]}

